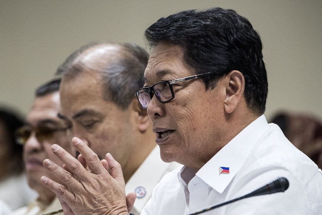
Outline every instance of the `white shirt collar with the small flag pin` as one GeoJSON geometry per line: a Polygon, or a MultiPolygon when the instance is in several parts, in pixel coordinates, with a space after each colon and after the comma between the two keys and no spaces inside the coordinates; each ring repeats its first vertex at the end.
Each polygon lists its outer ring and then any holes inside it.
{"type": "Polygon", "coordinates": [[[265,116],[258,117],[204,164],[196,176],[222,193],[267,129],[269,125],[265,116]],[[220,174],[220,167],[229,167],[229,173],[220,174]]]}

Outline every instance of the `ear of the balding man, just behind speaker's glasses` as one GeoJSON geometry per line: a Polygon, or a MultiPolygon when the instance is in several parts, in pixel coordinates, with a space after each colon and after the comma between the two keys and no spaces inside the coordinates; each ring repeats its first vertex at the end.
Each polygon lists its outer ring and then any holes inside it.
{"type": "Polygon", "coordinates": [[[138,103],[137,99],[133,99],[131,103],[131,108],[133,108],[135,113],[135,123],[140,132],[145,132],[150,126],[150,119],[147,115],[147,109],[143,109],[138,103]]]}

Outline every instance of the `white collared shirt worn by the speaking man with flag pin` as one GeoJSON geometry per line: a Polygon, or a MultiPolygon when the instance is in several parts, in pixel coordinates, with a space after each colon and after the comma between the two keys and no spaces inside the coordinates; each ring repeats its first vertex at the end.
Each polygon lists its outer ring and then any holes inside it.
{"type": "Polygon", "coordinates": [[[262,115],[197,173],[188,167],[168,173],[141,215],[192,213],[248,194],[278,177],[289,180],[284,193],[243,199],[203,215],[322,214],[322,171],[262,115]],[[229,173],[220,174],[220,167],[229,167],[229,173]]]}

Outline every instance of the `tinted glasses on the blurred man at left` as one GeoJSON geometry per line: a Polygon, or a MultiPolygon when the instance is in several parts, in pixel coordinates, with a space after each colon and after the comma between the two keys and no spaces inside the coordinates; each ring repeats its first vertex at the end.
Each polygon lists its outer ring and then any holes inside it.
{"type": "Polygon", "coordinates": [[[21,128],[18,128],[15,132],[16,143],[19,145],[24,145],[33,131],[35,132],[35,136],[38,141],[43,142],[44,140],[53,138],[55,132],[66,131],[67,129],[68,127],[50,128],[47,126],[39,126],[32,128],[31,126],[23,126],[21,128]]]}

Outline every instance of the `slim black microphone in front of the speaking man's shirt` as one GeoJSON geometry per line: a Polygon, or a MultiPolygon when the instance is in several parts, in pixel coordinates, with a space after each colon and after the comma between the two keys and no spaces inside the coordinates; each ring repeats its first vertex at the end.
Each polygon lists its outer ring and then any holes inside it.
{"type": "Polygon", "coordinates": [[[206,208],[204,210],[199,210],[199,211],[196,211],[194,213],[187,214],[187,215],[200,214],[200,213],[203,213],[203,212],[206,212],[206,211],[209,211],[209,210],[213,210],[215,208],[219,208],[219,207],[224,206],[226,204],[230,204],[232,202],[235,202],[235,201],[238,201],[238,200],[241,200],[241,199],[245,199],[245,198],[249,198],[249,197],[252,197],[252,196],[260,196],[260,195],[272,194],[272,193],[276,193],[276,192],[284,192],[288,188],[289,188],[289,180],[287,180],[284,177],[281,177],[281,178],[278,178],[277,180],[275,180],[273,182],[270,182],[269,184],[266,184],[265,186],[255,190],[255,191],[253,191],[251,193],[248,193],[248,194],[242,196],[242,197],[232,199],[232,200],[229,200],[229,201],[225,201],[225,202],[217,204],[217,205],[209,206],[209,208],[206,208]]]}

